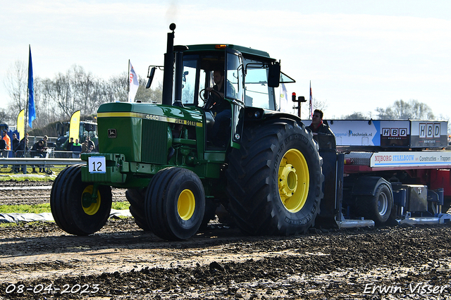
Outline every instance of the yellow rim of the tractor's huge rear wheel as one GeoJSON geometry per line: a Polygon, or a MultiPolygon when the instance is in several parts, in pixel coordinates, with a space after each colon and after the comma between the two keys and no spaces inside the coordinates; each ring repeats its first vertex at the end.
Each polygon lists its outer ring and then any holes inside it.
{"type": "Polygon", "coordinates": [[[278,187],[280,200],[291,213],[304,207],[309,194],[309,166],[301,151],[288,150],[280,161],[278,187]]]}

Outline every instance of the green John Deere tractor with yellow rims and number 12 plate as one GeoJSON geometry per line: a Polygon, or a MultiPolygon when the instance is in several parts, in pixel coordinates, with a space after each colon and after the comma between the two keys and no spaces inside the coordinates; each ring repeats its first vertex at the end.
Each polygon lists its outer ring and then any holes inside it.
{"type": "Polygon", "coordinates": [[[264,51],[173,46],[170,29],[162,104],[99,107],[99,153],[82,154],[52,187],[58,226],[97,232],[119,187],[137,225],[162,239],[189,239],[220,204],[249,235],[306,232],[320,211],[322,159],[302,121],[276,111],[274,87],[293,80],[264,51]]]}

